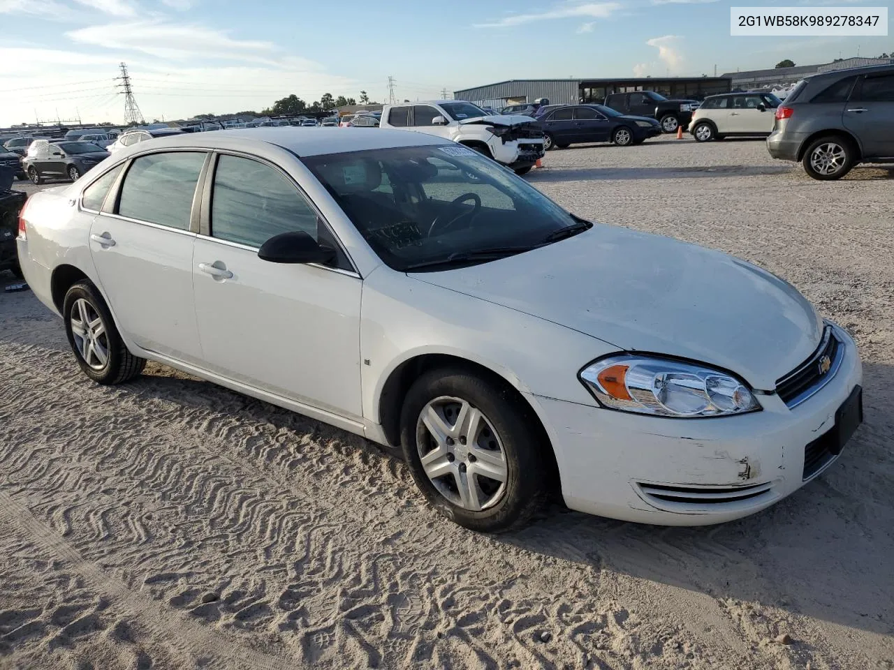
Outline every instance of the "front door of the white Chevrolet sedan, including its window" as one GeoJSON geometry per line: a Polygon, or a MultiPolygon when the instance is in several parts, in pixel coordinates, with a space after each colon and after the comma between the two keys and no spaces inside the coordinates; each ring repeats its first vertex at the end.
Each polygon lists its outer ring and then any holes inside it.
{"type": "Polygon", "coordinates": [[[325,222],[278,168],[234,155],[218,160],[209,214],[192,268],[207,369],[360,417],[363,282],[341,251],[330,266],[257,256],[267,239],[294,230],[339,248],[325,222]]]}

